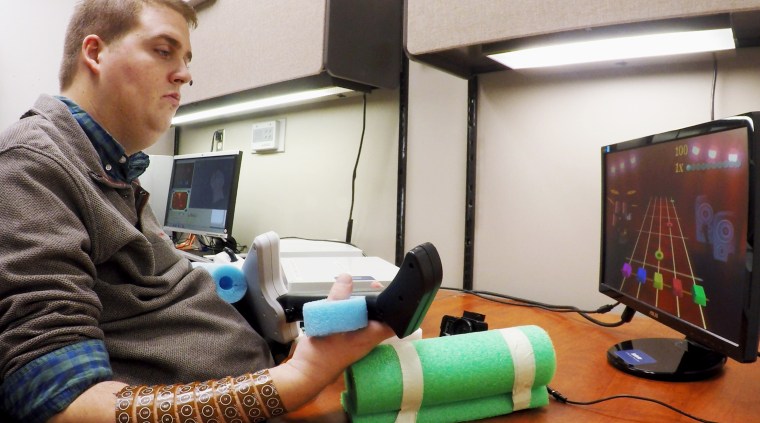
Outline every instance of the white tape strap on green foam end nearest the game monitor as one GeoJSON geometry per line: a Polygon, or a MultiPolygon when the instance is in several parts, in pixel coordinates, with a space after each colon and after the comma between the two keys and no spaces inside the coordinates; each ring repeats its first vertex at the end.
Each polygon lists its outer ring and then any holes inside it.
{"type": "Polygon", "coordinates": [[[533,352],[533,344],[518,328],[501,329],[499,332],[507,343],[512,363],[514,363],[515,384],[512,387],[514,411],[529,408],[531,390],[536,379],[536,356],[533,352]]]}

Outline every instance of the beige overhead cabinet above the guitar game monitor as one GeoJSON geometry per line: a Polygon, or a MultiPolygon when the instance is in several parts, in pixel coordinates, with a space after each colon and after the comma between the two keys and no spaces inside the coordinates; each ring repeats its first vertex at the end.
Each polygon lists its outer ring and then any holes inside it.
{"type": "Polygon", "coordinates": [[[461,76],[503,69],[486,53],[514,40],[663,20],[725,16],[737,44],[758,45],[760,0],[407,0],[405,47],[461,76]]]}

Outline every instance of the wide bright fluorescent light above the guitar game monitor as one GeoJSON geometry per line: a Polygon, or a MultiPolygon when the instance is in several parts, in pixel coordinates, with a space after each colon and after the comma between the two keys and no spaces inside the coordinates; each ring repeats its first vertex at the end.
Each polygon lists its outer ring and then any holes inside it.
{"type": "Polygon", "coordinates": [[[495,53],[488,57],[512,69],[525,69],[733,48],[733,32],[726,28],[576,42],[495,53]]]}

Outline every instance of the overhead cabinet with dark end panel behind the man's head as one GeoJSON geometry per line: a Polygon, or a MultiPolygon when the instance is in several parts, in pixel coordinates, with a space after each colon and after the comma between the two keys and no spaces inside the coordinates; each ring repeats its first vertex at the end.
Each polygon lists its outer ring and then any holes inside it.
{"type": "Polygon", "coordinates": [[[216,0],[191,32],[183,103],[327,85],[397,88],[401,0],[216,0]]]}

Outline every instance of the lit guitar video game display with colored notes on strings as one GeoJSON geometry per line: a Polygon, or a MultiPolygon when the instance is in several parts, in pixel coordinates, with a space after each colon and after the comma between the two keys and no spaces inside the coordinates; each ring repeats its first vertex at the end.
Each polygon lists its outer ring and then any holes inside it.
{"type": "Polygon", "coordinates": [[[737,343],[748,160],[745,128],[606,153],[603,284],[737,343]]]}

